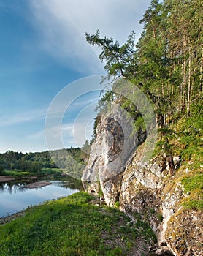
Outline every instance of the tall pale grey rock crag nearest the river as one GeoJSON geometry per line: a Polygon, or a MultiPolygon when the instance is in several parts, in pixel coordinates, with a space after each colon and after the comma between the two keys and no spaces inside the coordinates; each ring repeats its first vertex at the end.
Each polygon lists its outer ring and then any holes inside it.
{"type": "Polygon", "coordinates": [[[137,146],[137,137],[131,137],[132,129],[129,116],[118,105],[111,105],[97,125],[97,136],[82,181],[89,192],[102,189],[108,206],[119,200],[123,172],[137,146]]]}

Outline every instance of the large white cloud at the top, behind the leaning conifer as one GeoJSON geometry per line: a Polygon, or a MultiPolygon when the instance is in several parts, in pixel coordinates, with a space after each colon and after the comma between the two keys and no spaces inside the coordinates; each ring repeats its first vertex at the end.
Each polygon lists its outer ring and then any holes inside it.
{"type": "Polygon", "coordinates": [[[81,72],[101,72],[98,49],[85,42],[85,31],[96,29],[102,36],[124,42],[134,30],[139,38],[139,20],[150,0],[31,0],[34,26],[41,36],[41,47],[55,58],[81,72]]]}

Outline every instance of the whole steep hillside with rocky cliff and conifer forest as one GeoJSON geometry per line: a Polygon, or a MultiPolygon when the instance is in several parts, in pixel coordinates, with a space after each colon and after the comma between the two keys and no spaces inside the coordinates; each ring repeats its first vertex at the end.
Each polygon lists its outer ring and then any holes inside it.
{"type": "MultiPolygon", "coordinates": [[[[200,1],[151,1],[142,37],[125,44],[86,34],[102,49],[110,91],[98,104],[83,172],[88,191],[153,228],[172,253],[202,255],[200,1]],[[113,76],[113,79],[112,79],[113,76]]],[[[163,254],[164,255],[164,254],[163,254]]]]}

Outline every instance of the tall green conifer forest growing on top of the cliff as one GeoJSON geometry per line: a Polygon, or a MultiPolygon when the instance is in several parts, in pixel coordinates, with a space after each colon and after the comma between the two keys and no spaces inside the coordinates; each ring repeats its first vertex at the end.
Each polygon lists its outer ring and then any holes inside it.
{"type": "MultiPolygon", "coordinates": [[[[101,37],[99,31],[85,35],[89,44],[101,49],[99,59],[107,72],[104,80],[113,78],[112,90],[98,103],[99,113],[107,102],[119,102],[134,118],[134,130],[145,132],[139,106],[115,93],[122,79],[130,82],[129,95],[135,88],[141,90],[156,113],[156,151],[166,154],[171,175],[175,155],[194,168],[202,161],[202,14],[199,0],[153,0],[140,20],[139,42],[134,41],[134,31],[123,45],[112,37],[101,37]]],[[[131,95],[130,99],[137,97],[131,95]]],[[[98,121],[99,116],[94,135],[98,121]]]]}

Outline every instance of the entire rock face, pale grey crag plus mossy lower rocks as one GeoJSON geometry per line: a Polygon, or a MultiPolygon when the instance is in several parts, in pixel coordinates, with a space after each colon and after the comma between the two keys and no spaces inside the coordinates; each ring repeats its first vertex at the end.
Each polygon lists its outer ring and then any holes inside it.
{"type": "MultiPolygon", "coordinates": [[[[118,202],[129,216],[139,215],[156,233],[158,244],[174,255],[203,255],[202,212],[183,209],[181,201],[187,195],[180,181],[169,176],[166,157],[160,154],[141,162],[145,136],[139,142],[131,138],[129,122],[120,118],[120,111],[111,113],[100,118],[83,173],[84,187],[102,193],[108,206],[118,202]]],[[[175,162],[178,167],[180,159],[175,162]]]]}

